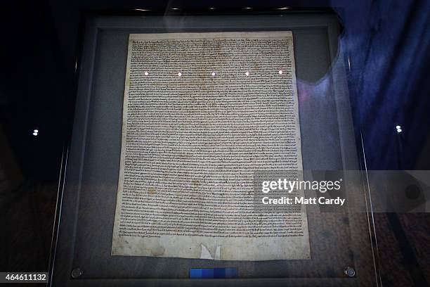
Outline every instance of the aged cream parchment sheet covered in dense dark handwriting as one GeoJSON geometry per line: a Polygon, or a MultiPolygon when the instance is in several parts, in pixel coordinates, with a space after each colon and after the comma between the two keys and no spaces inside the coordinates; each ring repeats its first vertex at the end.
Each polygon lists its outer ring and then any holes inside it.
{"type": "Polygon", "coordinates": [[[292,32],[131,34],[112,255],[310,257],[305,212],[255,212],[302,170],[292,32]]]}

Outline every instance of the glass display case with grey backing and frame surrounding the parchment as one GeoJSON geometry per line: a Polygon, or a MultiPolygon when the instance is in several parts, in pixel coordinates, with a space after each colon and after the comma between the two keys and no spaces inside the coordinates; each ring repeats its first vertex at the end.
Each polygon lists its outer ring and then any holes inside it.
{"type": "MultiPolygon", "coordinates": [[[[342,40],[342,23],[336,13],[288,11],[285,8],[266,13],[210,13],[209,10],[209,13],[175,15],[175,11],[171,11],[171,15],[157,15],[136,10],[130,15],[89,14],[84,21],[82,53],[77,62],[77,98],[74,107],[70,107],[74,108],[74,124],[63,165],[52,285],[141,286],[159,283],[200,286],[203,283],[217,285],[219,281],[216,280],[222,280],[226,286],[266,283],[271,286],[379,285],[372,206],[367,200],[366,180],[361,177],[358,177],[358,188],[353,189],[354,196],[363,204],[359,212],[348,208],[327,212],[320,205],[306,207],[310,255],[306,258],[208,260],[157,254],[141,256],[138,253],[136,256],[112,255],[117,193],[122,181],[122,147],[126,143],[123,141],[124,129],[127,129],[123,114],[126,110],[124,91],[130,89],[130,81],[134,80],[130,77],[130,63],[127,62],[133,52],[130,49],[131,34],[153,36],[166,33],[175,39],[175,33],[236,32],[246,38],[246,33],[252,32],[291,32],[294,58],[290,68],[294,72],[292,89],[296,89],[293,96],[297,96],[297,114],[294,116],[299,118],[299,141],[296,144],[301,151],[302,163],[299,170],[366,170],[359,140],[360,127],[354,125],[351,112],[352,90],[348,84],[351,60],[348,46],[342,40]]],[[[283,42],[280,43],[278,47],[266,48],[272,58],[278,49],[287,50],[287,44],[282,46],[283,42]]],[[[187,55],[187,51],[183,53],[187,55]]],[[[247,52],[243,53],[246,55],[247,52]]],[[[188,60],[184,58],[183,61],[188,60]]],[[[274,72],[281,76],[287,68],[279,67],[274,72]]],[[[152,70],[145,69],[141,70],[140,77],[154,74],[157,66],[152,70]]],[[[175,77],[185,77],[197,66],[188,66],[188,69],[179,69],[175,77]]],[[[222,77],[221,68],[217,69],[207,66],[207,81],[210,77],[222,77]]],[[[253,72],[257,74],[258,70],[252,66],[244,69],[242,77],[250,77],[253,72]]],[[[169,79],[174,80],[176,78],[169,79]]],[[[160,76],[148,89],[157,84],[163,86],[169,82],[160,76]]],[[[250,87],[243,82],[239,85],[238,80],[230,82],[231,87],[235,84],[245,89],[245,94],[250,87]]],[[[266,78],[262,85],[261,91],[275,87],[273,77],[266,78]]],[[[164,93],[161,96],[174,95],[164,93]]],[[[259,101],[258,96],[254,101],[259,101]]],[[[152,102],[143,101],[142,104],[152,102]]],[[[169,109],[168,106],[165,108],[169,109]]],[[[322,174],[327,180],[327,173],[322,174]]],[[[187,186],[183,186],[178,192],[186,189],[187,186]]]]}

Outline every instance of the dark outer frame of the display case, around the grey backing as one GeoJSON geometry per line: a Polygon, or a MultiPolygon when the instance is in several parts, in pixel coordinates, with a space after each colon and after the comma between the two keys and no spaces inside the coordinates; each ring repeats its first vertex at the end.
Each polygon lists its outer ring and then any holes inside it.
{"type": "MultiPolygon", "coordinates": [[[[352,261],[356,274],[348,276],[343,274],[344,271],[350,268],[350,264],[345,262],[344,269],[337,269],[339,274],[335,274],[329,278],[322,276],[316,277],[300,277],[289,276],[286,272],[285,277],[277,278],[253,278],[246,276],[240,279],[185,279],[185,278],[139,278],[139,276],[129,274],[121,276],[110,274],[110,276],[98,276],[93,274],[86,277],[86,269],[78,266],[79,258],[91,258],[84,246],[82,239],[79,239],[77,244],[78,229],[82,229],[81,224],[86,219],[86,216],[91,215],[91,212],[84,212],[84,209],[96,208],[91,206],[91,200],[85,201],[88,193],[82,194],[82,186],[87,157],[91,153],[95,153],[97,143],[100,143],[100,136],[93,137],[91,133],[97,127],[91,124],[94,115],[100,115],[96,109],[103,108],[103,104],[107,106],[116,106],[122,110],[122,104],[119,105],[121,98],[106,98],[103,101],[96,100],[94,95],[97,93],[95,89],[99,89],[100,84],[96,84],[97,58],[100,57],[100,33],[105,31],[126,30],[126,32],[220,32],[220,31],[242,31],[242,30],[298,30],[298,29],[314,29],[320,27],[327,32],[327,55],[329,56],[330,65],[327,73],[330,75],[328,82],[331,82],[333,95],[333,108],[336,115],[332,118],[337,122],[337,130],[339,135],[339,160],[330,165],[330,159],[321,160],[319,162],[329,162],[327,165],[320,165],[318,162],[313,162],[313,158],[318,159],[317,153],[308,148],[308,167],[313,169],[340,169],[340,170],[356,170],[363,166],[363,154],[357,146],[357,135],[354,134],[353,122],[351,117],[351,104],[348,97],[347,77],[348,70],[345,67],[348,55],[344,51],[344,47],[339,42],[339,34],[341,34],[341,26],[339,20],[334,13],[329,13],[327,10],[316,11],[216,11],[211,13],[208,11],[192,11],[192,13],[183,13],[184,11],[170,11],[169,15],[163,14],[162,11],[152,11],[147,13],[144,11],[122,11],[115,12],[91,12],[86,13],[83,18],[82,25],[82,53],[77,59],[77,91],[76,98],[72,98],[70,103],[70,115],[73,115],[73,132],[69,141],[65,146],[63,155],[62,172],[59,182],[58,206],[56,212],[56,226],[54,228],[53,248],[51,255],[50,268],[50,284],[51,286],[141,286],[145,285],[162,285],[176,286],[179,283],[184,286],[201,286],[209,284],[219,286],[261,286],[268,284],[271,286],[281,286],[285,283],[293,286],[368,286],[371,281],[375,286],[379,285],[379,272],[377,264],[377,248],[374,245],[374,230],[372,227],[371,206],[366,201],[366,206],[369,213],[348,215],[349,231],[351,232],[351,249],[362,250],[363,244],[367,246],[364,249],[363,257],[367,260],[371,259],[371,266],[368,262],[354,258],[352,261]],[[210,15],[209,15],[210,14],[210,15]],[[184,24],[185,23],[185,24],[184,24]],[[342,83],[342,84],[338,84],[342,83]],[[102,103],[103,102],[103,103],[102,103]],[[101,105],[101,106],[100,106],[101,105]],[[117,106],[119,105],[119,107],[117,106]],[[351,153],[353,151],[353,153],[351,153]],[[360,159],[361,158],[361,159],[360,159]],[[362,234],[363,229],[353,227],[365,227],[366,234],[362,234]],[[81,248],[80,248],[81,247],[81,248]],[[82,251],[84,250],[84,251],[82,251]],[[89,257],[79,257],[80,253],[84,252],[89,257]],[[369,279],[369,276],[371,277],[369,279]],[[367,277],[367,278],[365,278],[367,277]],[[364,281],[363,281],[364,280],[364,281]]],[[[294,39],[295,41],[296,39],[294,39]]],[[[296,44],[296,43],[295,43],[296,44]]],[[[126,46],[123,47],[126,49],[126,46]]],[[[296,47],[294,48],[296,50],[296,47]]],[[[296,50],[297,51],[297,50],[296,50]]],[[[296,53],[295,51],[295,53],[296,53]]],[[[300,53],[300,51],[297,51],[300,53]]],[[[296,56],[298,54],[296,53],[296,56]]],[[[124,55],[122,55],[124,56],[124,55]]],[[[100,58],[99,58],[100,60],[100,58]]],[[[300,63],[298,60],[297,62],[300,63]]],[[[300,64],[297,64],[300,65],[300,64]]],[[[313,77],[306,75],[306,69],[314,65],[307,63],[304,67],[297,67],[298,79],[306,78],[309,81],[313,77]],[[306,67],[305,67],[306,66],[306,67]]],[[[112,67],[111,67],[112,68],[112,67]]],[[[115,68],[115,67],[114,67],[115,68]]],[[[125,67],[123,67],[125,71],[125,67]]],[[[114,73],[115,74],[115,73],[114,73]]],[[[125,73],[124,73],[125,77],[125,73]]],[[[120,79],[124,84],[124,78],[120,79]]],[[[119,82],[120,82],[119,81],[119,82]]],[[[321,82],[318,80],[317,82],[321,82]]],[[[317,84],[318,86],[318,84],[317,84]]],[[[121,89],[121,87],[117,87],[121,89]]],[[[311,106],[310,106],[311,108],[311,106]]],[[[108,117],[105,117],[107,119],[108,117]]],[[[103,120],[103,119],[96,119],[103,120]]],[[[109,125],[109,122],[105,123],[109,125]]],[[[120,124],[120,123],[119,123],[120,124]]],[[[115,124],[116,125],[116,124],[115,124]]],[[[359,146],[359,145],[358,145],[359,146]]],[[[305,148],[306,150],[306,148],[305,148]]],[[[109,151],[109,149],[105,150],[109,151]]],[[[102,151],[103,152],[103,151],[102,151]]],[[[118,151],[119,152],[119,151],[118,151]]],[[[111,162],[112,163],[112,162],[111,162]]],[[[112,163],[116,164],[116,163],[112,163]]],[[[117,162],[119,165],[119,162],[117,162]]],[[[100,176],[100,174],[98,174],[100,176]]],[[[365,178],[363,185],[365,186],[365,178]]],[[[114,184],[115,185],[115,184],[114,184]]],[[[363,189],[363,196],[367,196],[367,189],[363,189]]],[[[116,195],[116,194],[115,194],[116,195]]],[[[115,196],[116,199],[116,196],[115,196]]],[[[96,201],[92,200],[93,205],[96,201]]],[[[114,208],[115,209],[115,208],[114,208]]],[[[111,210],[110,212],[115,212],[111,210]]],[[[104,226],[104,229],[110,229],[112,235],[112,226],[104,226]]],[[[101,230],[101,229],[100,229],[101,230]]],[[[81,234],[84,231],[80,231],[81,234]]],[[[104,232],[104,231],[103,231],[104,232]]],[[[310,235],[311,236],[311,235],[310,235]]],[[[79,237],[79,236],[78,236],[79,237]]],[[[111,240],[111,238],[110,238],[111,240]]],[[[313,245],[311,245],[313,248],[313,245]]],[[[339,250],[342,252],[342,250],[339,250]]],[[[109,254],[110,255],[110,254],[109,254]]],[[[96,255],[94,255],[96,256],[96,255]]],[[[124,262],[131,260],[124,260],[124,262]]],[[[230,266],[231,264],[229,264],[230,266]]],[[[199,267],[197,265],[196,267],[199,267]]],[[[171,265],[174,267],[174,264],[171,265]]],[[[118,269],[127,268],[126,264],[118,266],[118,269]]],[[[311,272],[311,270],[309,270],[311,272]]],[[[113,272],[112,272],[113,273],[113,272]]],[[[312,273],[312,272],[311,272],[312,273]]]]}

